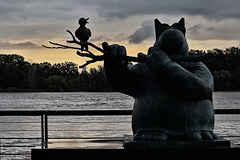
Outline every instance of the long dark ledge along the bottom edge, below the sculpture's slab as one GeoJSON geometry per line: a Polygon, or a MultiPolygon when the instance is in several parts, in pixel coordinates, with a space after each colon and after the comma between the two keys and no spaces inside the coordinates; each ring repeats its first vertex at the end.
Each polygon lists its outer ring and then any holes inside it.
{"type": "Polygon", "coordinates": [[[33,149],[32,160],[77,160],[77,159],[115,159],[156,157],[157,159],[180,158],[230,158],[239,156],[240,148],[229,149],[161,149],[161,150],[124,150],[124,149],[33,149]]]}

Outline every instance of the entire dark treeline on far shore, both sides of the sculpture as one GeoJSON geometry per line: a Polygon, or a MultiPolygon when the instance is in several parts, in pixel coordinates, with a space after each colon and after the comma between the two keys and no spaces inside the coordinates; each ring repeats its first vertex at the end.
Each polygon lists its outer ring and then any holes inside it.
{"type": "MultiPolygon", "coordinates": [[[[240,48],[208,51],[190,50],[191,55],[207,55],[203,62],[214,76],[215,91],[240,91],[240,48]]],[[[72,62],[29,63],[16,54],[0,54],[1,92],[114,91],[102,66],[79,70],[72,62]]]]}

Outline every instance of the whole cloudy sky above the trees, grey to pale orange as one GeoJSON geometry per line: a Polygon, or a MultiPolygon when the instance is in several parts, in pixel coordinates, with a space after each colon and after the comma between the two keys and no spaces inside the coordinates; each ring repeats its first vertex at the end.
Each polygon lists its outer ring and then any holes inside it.
{"type": "Polygon", "coordinates": [[[41,47],[65,43],[80,17],[89,17],[91,42],[126,46],[129,55],[154,43],[153,20],[172,24],[185,18],[192,49],[239,46],[239,0],[0,0],[0,53],[23,55],[30,62],[83,63],[73,50],[41,47]]]}

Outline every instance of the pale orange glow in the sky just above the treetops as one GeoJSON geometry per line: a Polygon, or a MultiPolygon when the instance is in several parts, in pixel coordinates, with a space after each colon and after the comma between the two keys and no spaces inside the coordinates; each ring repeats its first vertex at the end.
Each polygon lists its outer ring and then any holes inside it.
{"type": "MultiPolygon", "coordinates": [[[[188,41],[191,49],[214,49],[220,48],[225,49],[231,45],[238,45],[238,41],[188,41]]],[[[111,43],[110,43],[111,44],[111,43]]],[[[137,56],[137,53],[143,52],[147,53],[148,48],[151,46],[151,42],[145,42],[142,44],[128,44],[127,42],[118,42],[120,45],[124,45],[127,49],[127,54],[130,56],[137,56]]],[[[102,54],[99,52],[94,52],[95,50],[91,49],[95,54],[102,54]]],[[[22,55],[26,61],[30,63],[42,63],[50,62],[54,63],[63,63],[63,62],[74,62],[77,65],[83,64],[88,58],[80,57],[76,54],[76,50],[71,49],[21,49],[21,50],[2,50],[1,54],[18,54],[22,55]]],[[[96,67],[102,65],[103,62],[94,63],[88,67],[96,67]]]]}

